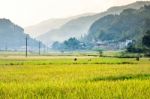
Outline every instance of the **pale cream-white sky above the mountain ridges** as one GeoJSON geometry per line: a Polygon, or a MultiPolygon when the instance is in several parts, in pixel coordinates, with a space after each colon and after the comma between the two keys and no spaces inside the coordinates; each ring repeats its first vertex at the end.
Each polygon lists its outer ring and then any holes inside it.
{"type": "Polygon", "coordinates": [[[112,6],[135,1],[137,0],[0,0],[0,18],[10,19],[26,27],[50,18],[98,13],[112,6]]]}

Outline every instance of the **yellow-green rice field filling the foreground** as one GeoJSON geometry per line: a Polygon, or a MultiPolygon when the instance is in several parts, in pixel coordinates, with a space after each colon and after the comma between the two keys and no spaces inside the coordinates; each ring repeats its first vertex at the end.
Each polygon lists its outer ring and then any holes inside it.
{"type": "Polygon", "coordinates": [[[147,58],[0,57],[0,99],[149,99],[149,93],[147,58]]]}

